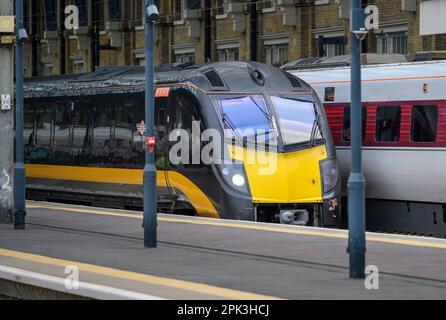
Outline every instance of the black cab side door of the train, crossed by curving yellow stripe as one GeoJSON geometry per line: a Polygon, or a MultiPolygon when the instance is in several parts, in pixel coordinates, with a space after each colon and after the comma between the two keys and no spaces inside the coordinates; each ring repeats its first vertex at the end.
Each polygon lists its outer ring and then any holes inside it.
{"type": "Polygon", "coordinates": [[[209,171],[200,157],[202,126],[196,98],[188,91],[171,91],[168,143],[165,148],[167,185],[174,196],[174,213],[195,215],[194,199],[202,192],[209,171]]]}

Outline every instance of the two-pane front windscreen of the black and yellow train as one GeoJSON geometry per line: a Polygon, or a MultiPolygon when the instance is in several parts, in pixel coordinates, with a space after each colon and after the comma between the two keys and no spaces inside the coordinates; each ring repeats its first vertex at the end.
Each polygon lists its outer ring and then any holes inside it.
{"type": "Polygon", "coordinates": [[[306,147],[322,139],[314,102],[301,95],[212,97],[227,138],[270,148],[306,147]],[[268,102],[269,101],[269,102],[268,102]]]}

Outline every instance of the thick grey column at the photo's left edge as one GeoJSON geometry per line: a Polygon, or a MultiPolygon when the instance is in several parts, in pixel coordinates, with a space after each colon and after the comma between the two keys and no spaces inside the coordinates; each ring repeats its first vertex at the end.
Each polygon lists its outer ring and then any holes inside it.
{"type": "MultiPolygon", "coordinates": [[[[0,16],[13,15],[13,2],[0,0],[0,16]]],[[[7,107],[7,101],[11,106],[10,110],[0,111],[0,223],[12,223],[14,212],[13,49],[11,44],[0,44],[0,94],[3,96],[3,107],[7,107]]]]}

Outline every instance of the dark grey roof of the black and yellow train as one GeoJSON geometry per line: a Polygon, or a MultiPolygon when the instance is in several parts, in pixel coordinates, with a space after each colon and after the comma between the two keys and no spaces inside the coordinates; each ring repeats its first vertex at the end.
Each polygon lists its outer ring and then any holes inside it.
{"type": "MultiPolygon", "coordinates": [[[[309,91],[300,79],[258,62],[219,62],[161,65],[155,69],[155,84],[192,83],[200,89],[229,92],[309,91]]],[[[34,77],[25,80],[25,98],[142,93],[144,67],[97,68],[84,74],[34,77]]]]}

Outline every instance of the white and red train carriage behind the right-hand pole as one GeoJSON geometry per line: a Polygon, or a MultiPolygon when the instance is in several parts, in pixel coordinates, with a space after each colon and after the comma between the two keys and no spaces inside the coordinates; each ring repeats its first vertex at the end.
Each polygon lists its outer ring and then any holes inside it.
{"type": "MultiPolygon", "coordinates": [[[[291,73],[325,105],[346,195],[350,68],[291,73]]],[[[446,237],[446,61],[364,66],[362,79],[367,227],[446,237]]]]}

